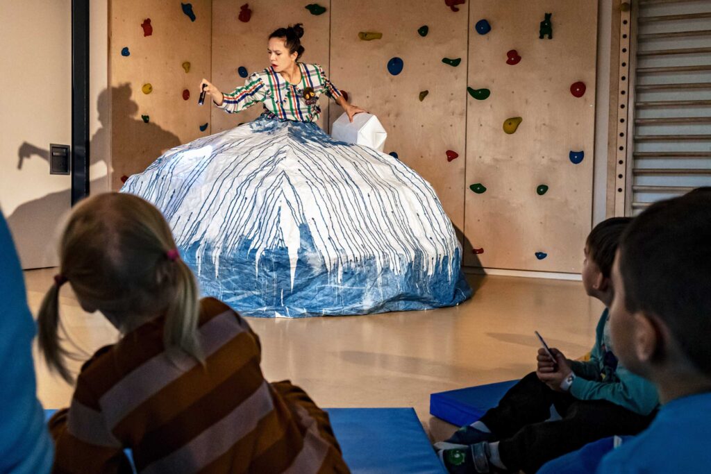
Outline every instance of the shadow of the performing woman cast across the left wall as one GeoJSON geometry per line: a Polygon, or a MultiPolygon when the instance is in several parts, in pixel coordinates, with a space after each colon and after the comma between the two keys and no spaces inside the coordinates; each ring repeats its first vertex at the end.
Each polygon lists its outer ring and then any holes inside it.
{"type": "MultiPolygon", "coordinates": [[[[90,166],[92,171],[96,165],[103,163],[112,176],[112,169],[109,169],[110,160],[105,153],[114,149],[121,149],[122,156],[151,156],[151,161],[155,160],[167,149],[178,146],[180,140],[178,136],[162,129],[153,123],[144,123],[142,119],[134,119],[134,114],[138,112],[138,104],[131,99],[132,90],[129,84],[112,87],[104,90],[97,100],[99,111],[100,129],[96,131],[90,141],[90,166]],[[110,105],[110,107],[109,107],[110,105]],[[109,116],[109,114],[111,114],[109,116]],[[111,125],[109,118],[113,119],[114,126],[120,124],[122,135],[130,137],[123,144],[111,143],[111,125]]],[[[25,160],[39,157],[47,162],[49,167],[49,150],[36,145],[23,143],[18,150],[17,168],[22,169],[25,160]]],[[[148,166],[150,163],[146,163],[148,166]]],[[[144,166],[144,168],[145,168],[144,166]]],[[[142,171],[142,170],[141,170],[142,171]]],[[[121,177],[114,177],[113,183],[121,184],[121,177]]],[[[93,178],[89,184],[92,190],[109,190],[107,176],[93,178]]],[[[114,188],[117,186],[114,184],[114,188]]],[[[8,224],[16,236],[22,236],[23,247],[28,249],[42,248],[48,239],[53,236],[46,235],[46,225],[39,221],[41,216],[61,215],[71,202],[71,190],[66,189],[43,196],[42,198],[29,201],[20,205],[9,215],[8,224]]]]}

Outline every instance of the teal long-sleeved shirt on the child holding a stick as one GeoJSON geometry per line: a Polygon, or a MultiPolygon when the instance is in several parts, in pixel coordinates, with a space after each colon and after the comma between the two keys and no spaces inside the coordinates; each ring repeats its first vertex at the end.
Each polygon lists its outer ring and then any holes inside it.
{"type": "Polygon", "coordinates": [[[656,387],[617,361],[609,343],[609,328],[606,330],[608,319],[609,311],[605,308],[597,323],[590,360],[572,363],[577,377],[570,386],[570,394],[579,400],[606,400],[648,415],[659,405],[656,387]]]}

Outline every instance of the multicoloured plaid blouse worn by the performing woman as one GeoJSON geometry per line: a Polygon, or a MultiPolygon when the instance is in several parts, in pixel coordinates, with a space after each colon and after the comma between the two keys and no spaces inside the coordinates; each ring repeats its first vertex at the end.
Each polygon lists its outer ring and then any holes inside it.
{"type": "Polygon", "coordinates": [[[240,112],[257,102],[264,104],[264,111],[272,118],[315,122],[321,114],[319,96],[326,94],[332,99],[341,97],[341,91],[331,83],[324,68],[318,64],[296,63],[301,70],[301,82],[291,84],[272,68],[255,72],[247,77],[244,87],[225,94],[219,105],[226,112],[240,112]]]}

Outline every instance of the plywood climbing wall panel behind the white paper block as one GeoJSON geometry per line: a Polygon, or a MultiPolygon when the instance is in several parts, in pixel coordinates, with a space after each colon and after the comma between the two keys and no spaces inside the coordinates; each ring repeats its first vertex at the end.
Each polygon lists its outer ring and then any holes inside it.
{"type": "MultiPolygon", "coordinates": [[[[459,230],[464,227],[467,10],[463,5],[453,11],[444,0],[331,1],[331,80],[353,104],[378,116],[388,134],[385,152],[397,153],[433,185],[459,230]],[[362,39],[359,33],[382,33],[382,38],[362,39]],[[459,65],[443,58],[460,60],[459,65]]],[[[331,122],[342,113],[332,104],[331,122]]]]}

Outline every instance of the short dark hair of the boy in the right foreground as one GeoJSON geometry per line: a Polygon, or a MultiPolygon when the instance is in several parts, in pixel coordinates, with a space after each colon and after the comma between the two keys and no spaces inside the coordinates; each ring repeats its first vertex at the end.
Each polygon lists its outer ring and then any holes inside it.
{"type": "Polygon", "coordinates": [[[711,375],[711,193],[654,203],[620,247],[625,306],[660,318],[685,355],[711,375]]]}

